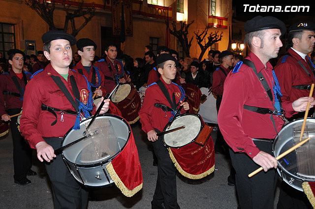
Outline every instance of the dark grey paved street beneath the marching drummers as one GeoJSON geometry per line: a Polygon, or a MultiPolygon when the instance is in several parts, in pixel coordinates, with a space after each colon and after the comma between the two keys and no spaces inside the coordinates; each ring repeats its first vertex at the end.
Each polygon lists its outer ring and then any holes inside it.
{"type": "MultiPolygon", "coordinates": [[[[151,200],[157,180],[157,167],[152,166],[152,147],[139,123],[131,126],[139,152],[143,173],[143,188],[131,198],[125,197],[112,185],[94,191],[96,201],[88,209],[151,209],[151,200]]],[[[216,132],[213,132],[216,137],[216,132]]],[[[11,134],[0,138],[0,208],[52,209],[52,193],[44,168],[33,151],[32,170],[37,176],[29,177],[31,185],[21,186],[13,180],[11,134]]],[[[237,209],[235,187],[227,185],[229,161],[216,155],[216,170],[204,179],[192,180],[177,175],[178,203],[182,209],[237,209]]],[[[277,198],[276,198],[277,201],[277,198]]]]}

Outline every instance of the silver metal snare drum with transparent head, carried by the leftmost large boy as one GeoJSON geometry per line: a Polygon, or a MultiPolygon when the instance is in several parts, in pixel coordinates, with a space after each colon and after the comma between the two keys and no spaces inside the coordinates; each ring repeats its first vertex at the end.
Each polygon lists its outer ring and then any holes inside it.
{"type": "MultiPolygon", "coordinates": [[[[81,138],[91,119],[81,121],[78,130],[70,129],[63,137],[62,146],[81,138]]],[[[62,153],[71,175],[88,187],[102,187],[114,182],[106,165],[124,149],[131,133],[125,119],[110,114],[96,117],[87,134],[96,130],[97,135],[64,149],[62,153]]]]}

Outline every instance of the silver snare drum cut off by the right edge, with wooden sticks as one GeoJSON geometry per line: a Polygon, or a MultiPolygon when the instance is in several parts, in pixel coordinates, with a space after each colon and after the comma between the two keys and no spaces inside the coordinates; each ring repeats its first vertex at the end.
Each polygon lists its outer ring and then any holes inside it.
{"type": "MultiPolygon", "coordinates": [[[[284,124],[273,144],[275,157],[299,143],[303,119],[284,124]]],[[[312,137],[301,147],[278,160],[278,173],[293,188],[303,191],[303,181],[315,181],[315,119],[308,118],[303,139],[312,137]]]]}

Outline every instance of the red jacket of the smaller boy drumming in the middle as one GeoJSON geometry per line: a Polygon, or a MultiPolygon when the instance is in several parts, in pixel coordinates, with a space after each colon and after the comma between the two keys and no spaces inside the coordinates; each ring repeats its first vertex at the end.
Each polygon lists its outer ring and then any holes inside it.
{"type": "MultiPolygon", "coordinates": [[[[179,86],[174,83],[166,84],[162,78],[160,78],[160,80],[163,82],[164,86],[168,90],[171,98],[174,92],[176,103],[179,102],[180,98],[182,97],[179,86]]],[[[154,130],[154,128],[157,128],[159,131],[163,131],[165,125],[168,123],[169,119],[172,116],[171,112],[164,112],[161,108],[155,107],[155,103],[161,103],[165,104],[168,107],[171,107],[158,85],[152,84],[146,90],[143,105],[141,110],[139,111],[142,130],[146,133],[154,130]]],[[[185,113],[186,111],[182,109],[181,112],[185,113]]]]}

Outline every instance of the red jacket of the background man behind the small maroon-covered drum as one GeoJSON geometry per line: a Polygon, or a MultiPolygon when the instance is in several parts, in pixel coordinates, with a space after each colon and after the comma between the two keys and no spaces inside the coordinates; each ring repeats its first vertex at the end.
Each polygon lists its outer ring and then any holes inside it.
{"type": "Polygon", "coordinates": [[[111,92],[116,87],[116,83],[115,83],[114,79],[116,80],[117,83],[119,82],[119,77],[124,77],[127,80],[127,76],[126,76],[126,73],[124,72],[124,69],[123,69],[121,62],[119,60],[115,60],[114,64],[107,57],[105,58],[104,61],[96,62],[94,64],[94,66],[98,67],[105,76],[105,90],[106,90],[106,92],[111,92]],[[110,64],[112,72],[108,68],[107,64],[110,64]],[[115,66],[117,65],[118,71],[115,69],[114,64],[115,64],[115,66]]]}

